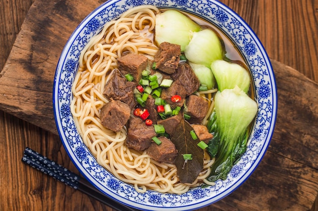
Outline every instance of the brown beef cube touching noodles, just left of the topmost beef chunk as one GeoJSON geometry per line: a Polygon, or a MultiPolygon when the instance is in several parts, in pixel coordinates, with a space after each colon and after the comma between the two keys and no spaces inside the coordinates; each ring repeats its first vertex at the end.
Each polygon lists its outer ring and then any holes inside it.
{"type": "Polygon", "coordinates": [[[148,58],[141,54],[129,53],[117,59],[117,66],[120,72],[131,74],[136,82],[142,77],[141,72],[147,68],[148,58]]]}

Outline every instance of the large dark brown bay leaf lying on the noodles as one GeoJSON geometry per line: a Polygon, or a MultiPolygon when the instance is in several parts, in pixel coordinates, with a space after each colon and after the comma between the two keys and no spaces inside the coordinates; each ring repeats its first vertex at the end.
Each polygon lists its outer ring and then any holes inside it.
{"type": "Polygon", "coordinates": [[[200,139],[193,140],[190,135],[192,130],[192,126],[182,118],[171,136],[178,150],[175,165],[181,183],[193,183],[203,169],[204,151],[197,145],[200,139]],[[192,160],[185,161],[183,154],[192,154],[192,160]]]}

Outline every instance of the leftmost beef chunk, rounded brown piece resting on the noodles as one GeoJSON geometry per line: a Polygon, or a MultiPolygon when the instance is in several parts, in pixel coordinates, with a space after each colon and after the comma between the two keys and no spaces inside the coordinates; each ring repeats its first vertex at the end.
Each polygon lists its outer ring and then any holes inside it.
{"type": "Polygon", "coordinates": [[[119,100],[111,100],[101,109],[101,123],[109,130],[119,132],[130,117],[131,109],[119,100]]]}

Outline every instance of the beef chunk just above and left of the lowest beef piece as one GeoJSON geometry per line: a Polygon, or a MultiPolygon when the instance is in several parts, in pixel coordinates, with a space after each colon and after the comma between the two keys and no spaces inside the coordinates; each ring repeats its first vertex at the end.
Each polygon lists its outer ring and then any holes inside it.
{"type": "Polygon", "coordinates": [[[153,125],[147,126],[141,118],[132,117],[128,124],[126,145],[136,150],[147,149],[156,136],[153,125]]]}

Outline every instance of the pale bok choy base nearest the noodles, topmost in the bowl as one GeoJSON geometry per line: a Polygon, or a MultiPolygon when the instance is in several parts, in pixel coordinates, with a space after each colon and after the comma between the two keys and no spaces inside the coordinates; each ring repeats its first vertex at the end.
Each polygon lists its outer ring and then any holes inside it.
{"type": "Polygon", "coordinates": [[[188,45],[192,33],[199,31],[200,26],[176,10],[167,10],[156,15],[155,42],[160,45],[163,42],[180,45],[183,52],[188,45]]]}

